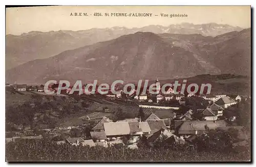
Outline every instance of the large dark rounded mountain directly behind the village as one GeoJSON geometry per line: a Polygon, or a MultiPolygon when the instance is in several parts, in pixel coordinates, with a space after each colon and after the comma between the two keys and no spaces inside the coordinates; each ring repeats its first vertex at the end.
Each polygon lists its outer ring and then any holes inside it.
{"type": "Polygon", "coordinates": [[[251,29],[216,37],[201,34],[136,32],[53,57],[29,61],[6,71],[6,81],[41,84],[48,80],[111,82],[198,74],[250,76],[251,29]]]}

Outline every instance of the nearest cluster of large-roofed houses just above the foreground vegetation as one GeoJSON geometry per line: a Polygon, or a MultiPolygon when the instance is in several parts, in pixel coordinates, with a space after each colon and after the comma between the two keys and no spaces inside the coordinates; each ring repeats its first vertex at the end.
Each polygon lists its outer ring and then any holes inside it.
{"type": "Polygon", "coordinates": [[[248,140],[243,132],[243,127],[228,126],[225,120],[218,120],[223,114],[223,107],[214,103],[205,109],[198,109],[202,114],[202,120],[193,119],[195,114],[189,109],[184,115],[177,115],[174,110],[155,110],[145,121],[138,118],[124,119],[113,122],[103,117],[90,131],[91,140],[84,141],[82,138],[68,138],[66,141],[57,143],[70,143],[72,145],[89,145],[110,147],[114,144],[122,144],[124,137],[128,139],[127,147],[137,148],[137,142],[144,137],[148,146],[154,147],[157,141],[164,143],[193,144],[197,134],[206,133],[209,130],[239,130],[240,141],[248,140]]]}

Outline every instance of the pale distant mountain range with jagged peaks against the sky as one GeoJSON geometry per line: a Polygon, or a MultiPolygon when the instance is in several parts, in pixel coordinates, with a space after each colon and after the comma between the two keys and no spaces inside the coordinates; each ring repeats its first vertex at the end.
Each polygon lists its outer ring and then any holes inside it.
{"type": "Polygon", "coordinates": [[[181,23],[169,26],[148,25],[141,28],[111,27],[106,29],[90,29],[84,31],[51,31],[29,32],[19,36],[6,36],[6,69],[36,59],[53,57],[63,51],[72,50],[97,42],[108,41],[122,35],[136,32],[152,32],[155,34],[201,34],[203,36],[218,36],[232,31],[241,31],[238,26],[227,24],[181,23]]]}

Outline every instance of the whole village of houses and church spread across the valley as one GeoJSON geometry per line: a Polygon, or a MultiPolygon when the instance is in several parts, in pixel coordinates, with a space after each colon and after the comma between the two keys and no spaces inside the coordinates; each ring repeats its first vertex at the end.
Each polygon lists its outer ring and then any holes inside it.
{"type": "MultiPolygon", "coordinates": [[[[156,79],[156,85],[157,88],[161,87],[158,79],[156,79]]],[[[18,94],[30,92],[45,96],[42,85],[37,87],[6,85],[6,87],[18,94]]],[[[148,92],[138,96],[135,93],[131,95],[109,93],[101,97],[100,95],[69,95],[70,89],[61,95],[76,99],[74,100],[76,103],[90,101],[94,105],[94,108],[91,108],[91,114],[79,117],[80,122],[76,124],[37,129],[37,131],[43,130],[44,135],[36,135],[31,128],[19,130],[14,132],[13,136],[6,137],[6,142],[15,142],[26,138],[41,139],[47,136],[52,138],[56,144],[67,143],[74,146],[111,147],[120,144],[131,149],[138,149],[137,144],[141,141],[148,147],[155,147],[159,141],[193,146],[196,136],[217,129],[238,131],[238,140],[233,143],[233,146],[245,145],[248,140],[244,127],[232,123],[236,121],[236,116],[227,118],[223,111],[230,106],[238,105],[242,100],[249,100],[249,97],[226,94],[176,95],[170,87],[166,89],[167,94],[164,95],[160,91],[157,95],[151,95],[148,92]],[[196,104],[191,104],[189,101],[191,99],[200,99],[201,106],[195,107],[196,104]],[[203,102],[204,104],[202,104],[203,102]],[[117,112],[113,112],[115,107],[118,108],[117,112]],[[113,113],[118,113],[120,108],[126,113],[135,112],[138,115],[131,116],[134,118],[123,116],[115,120],[108,118],[113,113]],[[90,122],[96,115],[94,126],[88,128],[88,125],[92,125],[90,122]],[[84,129],[87,131],[86,135],[81,135],[81,132],[85,131],[84,129]],[[75,133],[75,135],[70,135],[71,133],[75,133]]],[[[120,88],[116,88],[116,90],[120,90],[120,88]]],[[[54,95],[47,96],[54,97],[54,95]]],[[[37,117],[34,116],[34,119],[37,117]]]]}

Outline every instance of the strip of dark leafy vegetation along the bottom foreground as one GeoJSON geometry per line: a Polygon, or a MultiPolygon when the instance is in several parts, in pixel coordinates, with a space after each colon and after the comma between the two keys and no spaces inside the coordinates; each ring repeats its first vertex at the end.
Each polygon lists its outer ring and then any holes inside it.
{"type": "MultiPolygon", "coordinates": [[[[139,145],[138,145],[139,146],[139,145]]],[[[20,140],[6,144],[7,161],[247,161],[250,152],[216,152],[164,147],[132,150],[116,145],[104,148],[57,145],[50,140],[20,140]]]]}

